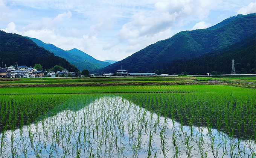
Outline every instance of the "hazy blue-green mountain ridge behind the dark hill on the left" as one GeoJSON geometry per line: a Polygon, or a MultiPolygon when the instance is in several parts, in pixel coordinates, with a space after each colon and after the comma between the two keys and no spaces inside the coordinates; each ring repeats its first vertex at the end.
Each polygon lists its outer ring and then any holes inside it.
{"type": "Polygon", "coordinates": [[[88,54],[76,48],[69,51],[65,51],[65,50],[62,50],[61,48],[56,47],[53,44],[46,44],[39,39],[36,39],[36,38],[30,38],[30,39],[32,39],[32,41],[34,41],[38,46],[44,47],[46,50],[49,50],[50,52],[54,53],[55,56],[59,56],[66,59],[67,61],[75,65],[80,70],[87,69],[91,71],[94,69],[104,68],[105,66],[110,65],[110,63],[108,62],[102,62],[100,60],[97,60],[92,56],[89,56],[88,54]]]}

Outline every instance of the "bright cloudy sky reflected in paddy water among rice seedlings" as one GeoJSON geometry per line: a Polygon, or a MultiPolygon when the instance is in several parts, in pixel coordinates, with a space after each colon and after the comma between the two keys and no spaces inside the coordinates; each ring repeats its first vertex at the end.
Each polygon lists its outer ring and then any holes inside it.
{"type": "MultiPolygon", "coordinates": [[[[80,99],[78,104],[82,102],[80,99]]],[[[95,157],[147,157],[149,150],[152,157],[163,157],[163,151],[171,157],[176,153],[173,137],[177,137],[175,144],[180,157],[189,154],[200,158],[207,153],[207,157],[225,158],[239,152],[241,157],[248,157],[250,148],[256,149],[254,141],[229,138],[216,129],[209,132],[204,127],[180,126],[116,96],[96,99],[78,111],[64,110],[37,124],[6,131],[0,137],[4,142],[0,149],[2,157],[24,157],[24,153],[27,157],[75,157],[78,153],[95,157]],[[160,135],[165,137],[165,146],[160,135]]]]}

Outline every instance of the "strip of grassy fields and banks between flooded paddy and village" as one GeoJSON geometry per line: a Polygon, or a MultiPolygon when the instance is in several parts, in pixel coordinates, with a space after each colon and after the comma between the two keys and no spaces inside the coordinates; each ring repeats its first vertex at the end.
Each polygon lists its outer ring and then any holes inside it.
{"type": "Polygon", "coordinates": [[[256,77],[70,77],[70,78],[0,78],[0,87],[66,87],[131,85],[229,84],[256,87],[256,77]]]}

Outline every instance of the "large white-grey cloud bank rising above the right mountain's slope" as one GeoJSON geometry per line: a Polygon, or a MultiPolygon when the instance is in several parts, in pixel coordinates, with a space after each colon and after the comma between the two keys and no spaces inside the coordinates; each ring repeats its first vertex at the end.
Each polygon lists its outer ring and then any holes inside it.
{"type": "MultiPolygon", "coordinates": [[[[128,41],[127,51],[136,51],[144,48],[156,40],[166,39],[173,35],[172,27],[183,27],[193,20],[206,18],[211,9],[221,0],[168,0],[154,4],[152,11],[139,11],[133,14],[131,21],[123,24],[118,37],[119,41],[128,41]],[[133,42],[132,42],[133,41],[133,42]],[[136,42],[134,42],[136,41],[136,42]]],[[[203,29],[210,24],[204,21],[196,24],[193,29],[203,29]]]]}

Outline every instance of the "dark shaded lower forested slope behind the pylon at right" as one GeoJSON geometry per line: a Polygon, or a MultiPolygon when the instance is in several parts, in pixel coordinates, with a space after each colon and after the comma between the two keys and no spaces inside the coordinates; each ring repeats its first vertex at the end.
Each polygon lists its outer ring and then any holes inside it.
{"type": "MultiPolygon", "coordinates": [[[[236,74],[256,74],[256,32],[233,45],[188,60],[175,60],[159,72],[168,74],[231,74],[232,59],[236,74]]],[[[153,70],[154,71],[154,70],[153,70]]]]}

